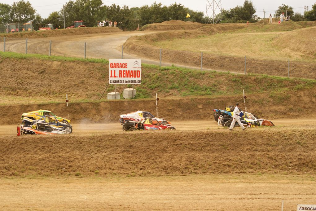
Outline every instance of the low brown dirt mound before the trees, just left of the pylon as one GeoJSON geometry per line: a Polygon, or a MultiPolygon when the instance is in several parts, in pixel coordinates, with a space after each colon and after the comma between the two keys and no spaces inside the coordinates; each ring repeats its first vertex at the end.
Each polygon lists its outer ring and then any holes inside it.
{"type": "Polygon", "coordinates": [[[162,23],[152,23],[143,26],[140,30],[194,30],[200,27],[206,26],[206,24],[201,24],[192,21],[179,21],[179,20],[171,20],[164,21],[162,23]]]}

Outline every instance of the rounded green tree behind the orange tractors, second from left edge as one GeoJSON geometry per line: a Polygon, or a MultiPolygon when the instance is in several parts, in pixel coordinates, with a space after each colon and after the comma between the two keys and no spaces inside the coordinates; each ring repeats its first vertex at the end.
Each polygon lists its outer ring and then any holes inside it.
{"type": "Polygon", "coordinates": [[[33,21],[35,19],[35,9],[28,1],[24,2],[24,0],[21,0],[19,2],[13,2],[10,18],[13,22],[33,21]]]}

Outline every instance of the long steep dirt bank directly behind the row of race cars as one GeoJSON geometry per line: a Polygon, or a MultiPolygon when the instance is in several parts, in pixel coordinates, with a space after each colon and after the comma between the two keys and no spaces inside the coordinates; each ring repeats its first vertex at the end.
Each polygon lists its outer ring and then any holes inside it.
{"type": "MultiPolygon", "coordinates": [[[[247,111],[256,114],[259,118],[299,118],[312,111],[316,103],[313,93],[297,92],[295,96],[279,99],[283,94],[270,98],[266,94],[248,95],[247,111]],[[305,95],[306,94],[306,95],[305,95]],[[298,99],[300,99],[298,101],[298,99]]],[[[241,96],[242,97],[242,96],[241,96]]],[[[213,121],[213,109],[225,109],[228,105],[242,102],[239,96],[197,97],[197,98],[160,98],[158,110],[155,99],[143,100],[109,100],[95,103],[65,103],[31,104],[31,105],[6,105],[0,106],[0,124],[21,123],[21,114],[39,109],[47,109],[54,114],[68,118],[72,123],[83,122],[119,122],[119,116],[134,111],[149,111],[159,118],[169,121],[180,120],[210,120],[213,121]],[[158,115],[157,112],[158,111],[158,115]]],[[[244,106],[241,106],[244,110],[244,106]]],[[[309,118],[315,117],[314,113],[308,114],[309,118]]]]}

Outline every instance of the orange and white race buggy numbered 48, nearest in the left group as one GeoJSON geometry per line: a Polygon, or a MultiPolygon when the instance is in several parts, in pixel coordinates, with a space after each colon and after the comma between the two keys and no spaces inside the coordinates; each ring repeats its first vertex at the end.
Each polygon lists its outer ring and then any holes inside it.
{"type": "Polygon", "coordinates": [[[48,123],[44,123],[44,122],[33,122],[28,127],[21,125],[17,132],[18,132],[18,136],[27,135],[27,134],[30,134],[30,135],[67,134],[65,130],[53,128],[48,123]]]}

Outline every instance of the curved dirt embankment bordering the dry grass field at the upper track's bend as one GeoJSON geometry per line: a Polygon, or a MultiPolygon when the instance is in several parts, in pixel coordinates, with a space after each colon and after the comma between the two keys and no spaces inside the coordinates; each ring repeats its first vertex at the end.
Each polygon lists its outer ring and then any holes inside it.
{"type": "MultiPolygon", "coordinates": [[[[206,30],[206,28],[205,28],[206,30]]],[[[210,29],[208,29],[210,30],[210,29]]],[[[212,33],[214,30],[212,31],[212,33]]],[[[215,32],[216,33],[216,32],[215,32]]],[[[160,39],[192,38],[205,33],[188,31],[161,32],[144,36],[131,37],[124,44],[126,51],[152,59],[160,58],[159,47],[153,43],[160,39]]],[[[200,66],[201,53],[191,51],[179,51],[162,49],[162,60],[171,63],[200,66]]],[[[203,67],[218,70],[230,70],[243,73],[245,69],[244,57],[218,56],[203,54],[203,67]]],[[[287,76],[288,61],[247,58],[246,72],[256,74],[268,74],[287,76]]],[[[316,79],[316,63],[304,63],[291,61],[290,75],[292,77],[316,79]]]]}

